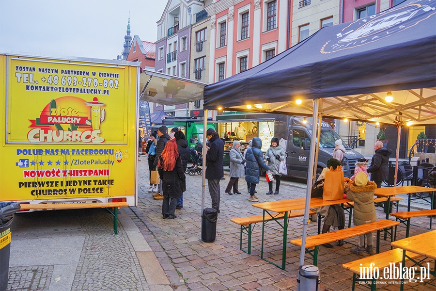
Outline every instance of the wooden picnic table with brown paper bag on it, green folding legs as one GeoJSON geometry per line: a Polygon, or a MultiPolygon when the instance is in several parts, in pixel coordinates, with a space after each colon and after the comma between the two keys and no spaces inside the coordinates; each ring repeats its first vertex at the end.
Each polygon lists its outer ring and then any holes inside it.
{"type": "MultiPolygon", "coordinates": [[[[321,207],[328,205],[336,205],[351,202],[349,199],[339,199],[339,200],[323,200],[323,198],[311,198],[310,207],[321,207]]],[[[286,264],[286,243],[287,243],[287,232],[288,232],[288,215],[290,211],[301,210],[306,206],[306,198],[296,198],[289,200],[279,200],[272,202],[263,202],[263,203],[253,203],[252,206],[260,208],[264,210],[264,222],[262,223],[262,248],[261,248],[261,259],[279,267],[282,270],[285,270],[286,264]],[[278,212],[284,214],[284,221],[281,224],[281,220],[271,219],[272,212],[278,212]],[[281,266],[275,264],[264,258],[264,237],[265,237],[265,217],[268,221],[275,221],[282,229],[283,229],[283,247],[282,247],[282,258],[281,258],[281,266]]]]}

